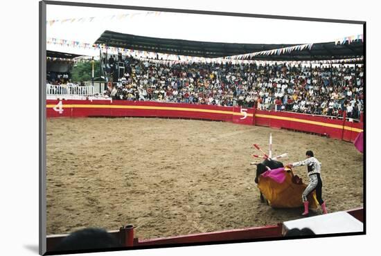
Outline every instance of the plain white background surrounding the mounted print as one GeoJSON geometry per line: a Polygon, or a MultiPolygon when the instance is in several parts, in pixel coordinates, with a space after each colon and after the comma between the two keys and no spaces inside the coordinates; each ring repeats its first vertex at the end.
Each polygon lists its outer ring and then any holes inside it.
{"type": "MultiPolygon", "coordinates": [[[[77,0],[80,1],[80,0],[77,0]]],[[[87,0],[89,2],[91,0],[87,0]]],[[[91,1],[105,3],[106,1],[91,1]]],[[[376,1],[175,1],[108,0],[107,3],[267,15],[355,19],[367,21],[366,48],[366,236],[269,241],[138,250],[91,255],[362,255],[375,249],[380,237],[380,167],[377,134],[380,82],[380,14],[376,1]],[[370,140],[371,138],[371,140],[370,140]],[[369,143],[371,141],[371,143],[369,143]]],[[[1,255],[38,252],[38,1],[3,1],[1,7],[1,255]],[[20,72],[19,66],[24,66],[20,72]],[[16,78],[15,78],[16,77],[16,78]],[[22,118],[21,118],[22,116],[22,118]],[[23,237],[20,235],[24,234],[23,237]],[[18,239],[15,239],[15,237],[18,239]]],[[[207,26],[206,26],[207,29],[207,26]]],[[[233,29],[233,28],[231,28],[233,29]]],[[[290,33],[303,31],[290,30],[290,33]]],[[[329,168],[324,170],[329,175],[329,168]]],[[[351,170],[348,170],[351,172],[351,170]]],[[[327,202],[328,205],[330,202],[327,202]]]]}

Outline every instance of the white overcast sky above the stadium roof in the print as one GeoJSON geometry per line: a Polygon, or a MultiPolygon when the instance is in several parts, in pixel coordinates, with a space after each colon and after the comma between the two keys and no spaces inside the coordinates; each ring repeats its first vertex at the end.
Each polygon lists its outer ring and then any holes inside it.
{"type": "Polygon", "coordinates": [[[105,30],[145,37],[240,44],[310,44],[362,34],[362,25],[358,24],[176,12],[150,14],[143,10],[78,6],[47,6],[46,19],[60,20],[47,25],[47,37],[91,44],[105,30]],[[63,21],[89,17],[95,18],[91,22],[86,19],[63,21]]]}

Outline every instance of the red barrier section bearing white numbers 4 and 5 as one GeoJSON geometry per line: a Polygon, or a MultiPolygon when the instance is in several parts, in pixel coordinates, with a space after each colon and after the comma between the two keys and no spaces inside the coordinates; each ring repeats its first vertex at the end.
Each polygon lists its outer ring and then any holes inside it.
{"type": "Polygon", "coordinates": [[[125,100],[46,100],[46,117],[141,116],[192,118],[253,125],[254,109],[125,100]],[[55,108],[55,109],[54,109],[55,108]]]}

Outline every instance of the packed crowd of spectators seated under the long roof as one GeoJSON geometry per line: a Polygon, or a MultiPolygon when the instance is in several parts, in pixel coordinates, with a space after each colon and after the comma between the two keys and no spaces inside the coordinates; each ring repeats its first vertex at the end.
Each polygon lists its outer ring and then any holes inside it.
{"type": "Polygon", "coordinates": [[[125,76],[105,92],[114,99],[244,106],[360,118],[362,66],[152,64],[126,58],[125,76]]]}

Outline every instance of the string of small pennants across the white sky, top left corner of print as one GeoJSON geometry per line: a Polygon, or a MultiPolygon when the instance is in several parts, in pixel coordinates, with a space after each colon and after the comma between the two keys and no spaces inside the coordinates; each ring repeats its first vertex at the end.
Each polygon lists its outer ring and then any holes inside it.
{"type": "Polygon", "coordinates": [[[108,15],[104,17],[82,17],[82,18],[72,18],[72,19],[51,19],[46,21],[46,24],[49,26],[53,26],[54,24],[73,24],[76,22],[85,23],[85,22],[94,22],[94,21],[105,21],[105,20],[122,20],[127,18],[133,18],[136,16],[148,16],[155,15],[159,16],[161,12],[136,12],[136,13],[125,13],[119,15],[108,15]]]}

